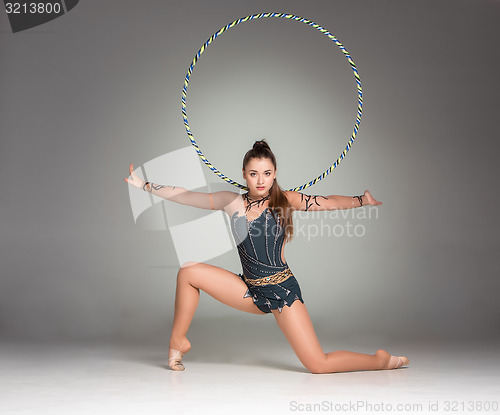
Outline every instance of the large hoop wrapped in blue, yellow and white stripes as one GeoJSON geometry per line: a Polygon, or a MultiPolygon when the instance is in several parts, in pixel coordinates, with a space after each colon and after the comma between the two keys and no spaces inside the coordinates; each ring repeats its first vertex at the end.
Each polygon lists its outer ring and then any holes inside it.
{"type": "Polygon", "coordinates": [[[326,177],[344,159],[347,152],[351,148],[351,145],[354,142],[354,139],[356,138],[356,134],[358,133],[359,123],[361,122],[361,113],[362,113],[362,109],[363,109],[363,91],[361,89],[361,79],[359,78],[358,70],[357,70],[356,65],[354,64],[354,62],[351,58],[351,55],[349,55],[349,52],[347,52],[347,50],[337,40],[337,38],[335,36],[333,36],[329,31],[327,31],[326,29],[324,29],[320,25],[312,22],[311,20],[304,19],[303,17],[294,16],[293,14],[259,13],[259,14],[253,14],[250,16],[242,17],[238,20],[235,20],[234,22],[227,24],[226,26],[222,27],[221,29],[219,29],[218,32],[216,32],[212,36],[210,36],[210,38],[203,44],[203,46],[200,48],[198,53],[194,56],[194,59],[191,62],[191,65],[189,65],[189,69],[187,71],[186,78],[184,79],[184,87],[182,89],[182,116],[184,119],[184,126],[186,127],[186,132],[187,132],[187,135],[189,137],[189,140],[191,141],[191,144],[193,145],[193,147],[196,149],[198,156],[200,156],[201,160],[210,168],[210,170],[212,170],[217,176],[219,176],[221,179],[225,180],[226,182],[228,182],[236,187],[239,187],[240,189],[248,190],[248,188],[246,186],[230,179],[229,177],[222,174],[219,170],[217,170],[215,168],[215,166],[213,164],[211,164],[208,161],[208,159],[204,156],[204,154],[201,152],[198,144],[194,140],[193,134],[191,133],[191,128],[189,127],[188,117],[187,117],[187,112],[186,112],[186,97],[187,97],[187,88],[188,88],[188,84],[189,84],[189,79],[191,78],[191,74],[193,73],[194,66],[196,65],[196,62],[200,58],[201,54],[208,47],[208,45],[210,45],[210,43],[212,43],[217,38],[217,36],[219,36],[221,33],[225,32],[226,30],[228,30],[228,29],[230,29],[230,28],[232,28],[240,23],[247,22],[247,21],[252,20],[252,19],[260,19],[263,17],[280,17],[280,18],[285,18],[285,19],[290,19],[290,20],[296,20],[296,21],[305,23],[305,24],[312,26],[313,28],[319,30],[321,33],[323,33],[325,36],[327,36],[330,40],[335,42],[335,44],[340,48],[342,53],[347,58],[347,61],[351,65],[351,68],[354,72],[354,78],[356,79],[356,86],[357,86],[357,90],[358,90],[358,110],[356,113],[356,122],[354,123],[354,129],[352,131],[351,138],[347,142],[347,146],[344,148],[344,150],[342,151],[340,156],[337,158],[335,163],[333,163],[324,173],[322,173],[321,175],[319,175],[314,180],[311,180],[308,183],[305,183],[301,186],[297,186],[297,187],[294,187],[292,189],[289,189],[289,190],[293,190],[293,191],[300,191],[302,189],[305,189],[307,187],[315,185],[321,179],[326,177]]]}

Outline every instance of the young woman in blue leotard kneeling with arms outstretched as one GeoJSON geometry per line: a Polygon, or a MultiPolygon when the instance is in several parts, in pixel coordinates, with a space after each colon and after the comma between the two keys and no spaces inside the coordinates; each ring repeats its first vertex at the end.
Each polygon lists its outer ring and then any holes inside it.
{"type": "Polygon", "coordinates": [[[191,349],[186,335],[203,290],[216,300],[253,314],[272,313],[304,367],[312,373],[395,369],[406,357],[385,350],[375,354],[324,353],[309,318],[299,284],[288,267],[283,246],[293,236],[292,212],[350,209],[381,202],[367,190],[362,196],[312,196],[283,191],[276,180],[276,158],[264,141],[256,141],[243,159],[248,192],[200,193],[141,180],[130,165],[127,183],[156,196],[202,209],[223,210],[230,217],[243,274],[204,264],[184,264],[177,274],[169,366],[184,370],[182,356],[191,349]]]}

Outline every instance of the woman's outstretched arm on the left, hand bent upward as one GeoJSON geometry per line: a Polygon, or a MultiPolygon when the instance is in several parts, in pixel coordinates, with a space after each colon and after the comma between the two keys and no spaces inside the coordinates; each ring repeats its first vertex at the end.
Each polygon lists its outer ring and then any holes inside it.
{"type": "Polygon", "coordinates": [[[239,193],[235,192],[193,192],[179,186],[167,186],[145,182],[135,174],[133,163],[130,164],[129,172],[130,177],[125,178],[125,181],[132,186],[163,199],[201,209],[224,210],[239,195],[239,193]]]}

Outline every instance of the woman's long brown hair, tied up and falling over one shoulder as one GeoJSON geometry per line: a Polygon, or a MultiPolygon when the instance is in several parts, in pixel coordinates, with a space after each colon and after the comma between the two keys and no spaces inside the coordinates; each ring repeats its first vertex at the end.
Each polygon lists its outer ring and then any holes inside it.
{"type": "MultiPolygon", "coordinates": [[[[276,157],[265,140],[256,141],[253,147],[246,152],[245,157],[243,157],[243,170],[245,170],[249,161],[254,158],[269,159],[273,163],[274,169],[277,169],[276,157]]],[[[285,243],[290,242],[293,238],[292,207],[276,179],[271,186],[269,194],[269,209],[271,213],[273,213],[273,209],[278,213],[281,225],[285,228],[285,243]]]]}

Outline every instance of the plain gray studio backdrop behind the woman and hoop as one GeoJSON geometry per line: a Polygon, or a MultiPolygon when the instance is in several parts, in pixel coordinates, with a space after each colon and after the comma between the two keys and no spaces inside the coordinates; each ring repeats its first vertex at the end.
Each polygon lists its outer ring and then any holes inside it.
{"type": "MultiPolygon", "coordinates": [[[[264,11],[330,30],[363,82],[351,151],[304,192],[369,189],[383,205],[371,218],[300,218],[360,224],[362,237],[297,235],[286,246],[320,338],[498,338],[498,1],[88,0],[16,34],[0,14],[2,339],[168,339],[174,245],[168,230],[148,229],[147,213],[134,222],[123,178],[129,163],[189,145],[180,96],[194,54],[223,25],[264,11]]],[[[189,88],[200,147],[236,180],[263,137],[283,188],[311,180],[354,123],[344,56],[284,19],[225,33],[189,88]]],[[[234,249],[209,262],[241,272],[234,249]]],[[[275,325],[202,294],[190,333],[216,344],[254,323],[275,325]]]]}

